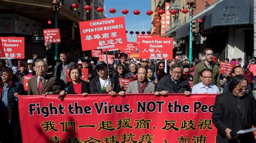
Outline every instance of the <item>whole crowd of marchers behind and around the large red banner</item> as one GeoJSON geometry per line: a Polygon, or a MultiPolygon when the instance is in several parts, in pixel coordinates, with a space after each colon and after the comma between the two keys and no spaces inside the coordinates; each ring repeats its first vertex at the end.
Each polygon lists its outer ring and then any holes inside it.
{"type": "MultiPolygon", "coordinates": [[[[37,59],[37,54],[33,54],[33,59],[17,63],[10,59],[1,60],[0,112],[6,130],[0,130],[0,142],[22,142],[19,96],[59,95],[56,98],[65,98],[66,94],[125,96],[143,93],[156,96],[218,94],[212,116],[218,129],[217,142],[251,142],[252,132],[232,133],[251,128],[255,119],[253,88],[256,64],[252,59],[241,67],[241,60],[230,61],[236,66],[228,74],[220,74],[221,60],[214,60],[211,48],[204,50],[203,59],[194,59],[192,63],[187,59],[181,60],[179,56],[172,60],[128,59],[127,54],[120,53],[113,64],[107,65],[104,61],[93,61],[90,56],[68,61],[64,52],[59,54],[59,61],[54,67],[49,66],[46,59],[37,59]],[[89,71],[86,80],[80,78],[83,68],[89,71]],[[69,73],[66,69],[70,69],[69,73]],[[24,90],[25,75],[34,75],[27,83],[28,91],[24,90]],[[66,81],[66,75],[71,82],[66,81]],[[122,78],[131,81],[126,90],[122,78]]],[[[229,60],[225,59],[225,62],[229,60]]]]}

